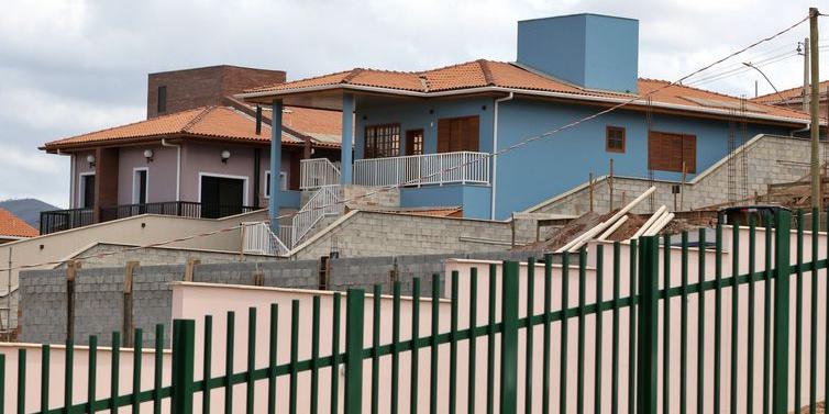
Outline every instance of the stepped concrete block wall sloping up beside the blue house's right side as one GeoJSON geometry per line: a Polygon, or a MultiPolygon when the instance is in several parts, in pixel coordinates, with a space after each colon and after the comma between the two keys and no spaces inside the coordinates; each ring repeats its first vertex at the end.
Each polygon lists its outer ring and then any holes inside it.
{"type": "MultiPolygon", "coordinates": [[[[748,166],[748,182],[745,195],[754,193],[763,194],[767,186],[778,182],[798,180],[809,172],[809,141],[803,138],[781,137],[763,135],[760,138],[747,143],[738,149],[734,158],[737,164],[738,183],[742,177],[739,153],[745,152],[748,166]]],[[[689,180],[684,189],[683,205],[681,210],[700,209],[729,201],[728,160],[723,159],[709,170],[699,175],[695,180],[689,180]]],[[[664,204],[674,210],[673,186],[676,181],[654,181],[656,192],[653,195],[653,208],[664,204]]],[[[643,178],[616,177],[614,179],[614,206],[630,202],[644,192],[651,182],[643,178]]],[[[742,186],[739,186],[738,199],[742,198],[742,186]]],[[[568,193],[555,197],[549,202],[528,210],[532,213],[560,213],[583,214],[589,209],[589,189],[579,186],[568,193]]],[[[677,195],[677,200],[678,200],[677,195]]],[[[594,186],[594,209],[597,212],[607,212],[610,206],[610,190],[607,177],[601,177],[594,186]]],[[[635,213],[649,213],[651,203],[644,201],[635,209],[635,213]]]]}

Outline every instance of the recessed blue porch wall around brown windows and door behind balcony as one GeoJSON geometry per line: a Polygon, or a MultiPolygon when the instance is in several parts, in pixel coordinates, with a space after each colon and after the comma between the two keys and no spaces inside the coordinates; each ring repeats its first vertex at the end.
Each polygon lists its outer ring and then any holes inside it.
{"type": "Polygon", "coordinates": [[[365,127],[389,123],[400,124],[400,155],[406,154],[406,131],[423,130],[423,153],[438,152],[438,120],[442,118],[480,116],[479,150],[493,150],[493,99],[452,99],[397,102],[395,104],[357,104],[354,132],[354,158],[362,159],[365,149],[365,127]],[[430,113],[432,112],[432,113],[430,113]]]}

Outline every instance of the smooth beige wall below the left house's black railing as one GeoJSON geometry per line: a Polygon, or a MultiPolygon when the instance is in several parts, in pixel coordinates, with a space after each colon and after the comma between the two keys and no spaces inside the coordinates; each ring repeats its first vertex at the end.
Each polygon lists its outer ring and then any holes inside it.
{"type": "MultiPolygon", "coordinates": [[[[15,287],[20,270],[16,268],[20,266],[64,260],[90,248],[93,244],[111,243],[144,246],[151,243],[166,242],[233,227],[240,222],[262,221],[265,216],[265,211],[220,220],[152,214],[140,215],[0,245],[0,257],[4,258],[4,267],[5,258],[9,257],[9,249],[11,249],[12,267],[15,268],[11,271],[11,284],[15,287]]],[[[240,245],[240,232],[239,230],[233,230],[206,237],[173,243],[169,246],[237,251],[240,245]]],[[[51,269],[54,267],[56,265],[52,264],[38,266],[35,269],[51,269]]],[[[8,277],[8,272],[0,272],[0,291],[5,290],[8,277]]]]}

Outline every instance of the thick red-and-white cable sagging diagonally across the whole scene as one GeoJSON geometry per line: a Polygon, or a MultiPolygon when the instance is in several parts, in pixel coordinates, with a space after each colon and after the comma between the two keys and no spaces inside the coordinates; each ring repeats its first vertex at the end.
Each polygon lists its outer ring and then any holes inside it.
{"type": "MultiPolygon", "coordinates": [[[[441,174],[450,172],[450,171],[453,171],[453,170],[466,167],[466,166],[472,165],[472,164],[480,163],[484,159],[495,158],[497,156],[507,154],[507,153],[512,152],[515,149],[519,149],[519,148],[521,148],[523,146],[527,146],[527,145],[529,145],[529,144],[531,144],[531,143],[533,143],[535,141],[553,136],[553,135],[555,135],[555,134],[557,134],[557,133],[560,133],[562,131],[570,130],[570,128],[572,128],[574,126],[577,126],[577,125],[583,124],[585,122],[588,122],[588,121],[592,121],[594,119],[597,119],[597,118],[599,118],[599,116],[601,116],[604,114],[614,112],[614,111],[619,110],[619,109],[621,109],[623,107],[627,107],[627,105],[629,105],[631,103],[635,103],[637,101],[641,101],[643,99],[644,100],[649,100],[654,93],[660,92],[662,90],[665,90],[667,88],[674,87],[676,85],[682,85],[683,81],[687,80],[688,78],[690,78],[693,76],[696,76],[696,75],[698,75],[698,74],[700,74],[700,72],[703,72],[705,70],[708,70],[708,69],[710,69],[714,66],[717,66],[717,65],[719,65],[719,64],[721,64],[721,63],[723,63],[723,61],[726,61],[726,60],[728,60],[728,59],[730,59],[732,57],[741,55],[741,54],[745,53],[747,51],[750,51],[750,49],[752,49],[752,48],[754,48],[754,47],[756,47],[756,46],[759,46],[761,44],[770,42],[770,41],[772,41],[772,40],[774,40],[774,38],[783,35],[783,34],[785,34],[785,33],[794,30],[795,27],[797,27],[798,25],[803,24],[808,19],[809,19],[809,16],[807,15],[803,20],[797,21],[796,23],[787,26],[786,29],[784,29],[784,30],[782,30],[780,32],[776,32],[776,33],[774,33],[774,34],[772,34],[770,36],[763,37],[763,38],[761,38],[761,40],[759,40],[759,41],[756,41],[754,43],[751,43],[748,46],[744,46],[744,47],[742,47],[742,48],[740,48],[740,49],[738,49],[738,51],[736,51],[736,52],[733,52],[733,53],[731,53],[731,54],[729,54],[729,55],[727,55],[725,57],[721,57],[721,58],[719,58],[719,59],[717,59],[717,60],[715,60],[715,61],[712,61],[712,63],[710,63],[710,64],[708,64],[706,66],[703,66],[701,68],[696,69],[696,70],[694,70],[694,71],[692,71],[692,72],[689,72],[689,74],[687,74],[687,75],[685,75],[685,76],[683,76],[683,77],[681,77],[681,78],[678,78],[678,79],[676,79],[676,80],[674,80],[672,82],[667,82],[667,83],[663,85],[662,87],[656,88],[656,89],[654,89],[654,90],[652,90],[652,91],[650,91],[650,92],[648,92],[648,93],[645,93],[643,96],[637,96],[637,97],[627,99],[627,100],[624,100],[622,102],[619,102],[619,103],[617,103],[617,104],[615,104],[612,107],[609,107],[609,108],[607,108],[605,110],[598,111],[598,112],[596,112],[594,114],[590,114],[590,115],[584,116],[582,119],[572,121],[570,123],[566,123],[566,124],[564,124],[562,126],[555,127],[555,128],[550,130],[548,132],[544,132],[542,134],[530,136],[530,137],[521,141],[521,142],[518,142],[518,143],[512,144],[512,145],[510,145],[508,147],[505,147],[504,149],[494,150],[491,154],[486,154],[485,157],[482,157],[482,158],[478,158],[478,159],[475,159],[475,160],[469,160],[469,161],[466,161],[466,163],[463,163],[463,164],[460,164],[460,165],[456,165],[456,166],[453,166],[453,167],[449,167],[449,168],[445,168],[445,169],[441,169],[439,171],[435,171],[435,172],[432,172],[430,175],[427,175],[427,176],[423,176],[423,177],[419,177],[417,179],[412,179],[412,180],[409,180],[409,181],[406,181],[406,182],[401,182],[401,183],[397,183],[397,184],[391,184],[391,186],[377,187],[375,190],[367,191],[365,193],[352,197],[351,199],[338,200],[336,202],[333,202],[333,203],[329,203],[329,204],[325,204],[325,205],[316,206],[312,210],[321,210],[321,209],[327,209],[327,208],[330,208],[330,206],[336,205],[336,204],[345,204],[345,203],[349,203],[349,202],[352,202],[352,201],[356,201],[356,200],[360,200],[360,199],[372,197],[372,195],[380,193],[380,192],[390,191],[390,190],[398,189],[398,188],[406,187],[406,186],[417,184],[417,183],[422,182],[423,180],[427,180],[429,178],[439,176],[441,174]]],[[[297,213],[284,214],[284,215],[280,215],[280,216],[276,216],[276,217],[269,219],[269,220],[264,221],[264,222],[269,222],[272,220],[277,220],[278,221],[280,219],[291,217],[291,216],[294,216],[297,213]]],[[[230,232],[230,231],[233,231],[233,230],[236,230],[236,228],[241,228],[242,226],[243,226],[243,224],[239,224],[239,225],[234,225],[234,226],[231,226],[231,227],[220,228],[220,230],[215,230],[215,231],[211,231],[211,232],[195,234],[195,235],[179,237],[179,238],[169,239],[169,240],[165,240],[165,242],[151,243],[151,244],[146,244],[146,245],[143,245],[143,246],[133,246],[133,247],[129,247],[129,248],[123,249],[123,250],[109,251],[109,253],[92,255],[92,256],[89,256],[89,257],[78,257],[78,258],[75,258],[75,259],[54,260],[54,261],[46,261],[46,262],[34,264],[34,265],[19,265],[16,267],[0,268],[0,272],[2,272],[2,271],[11,271],[11,270],[21,270],[21,269],[32,269],[32,268],[43,267],[43,266],[57,266],[57,265],[63,265],[63,264],[73,261],[73,260],[82,260],[82,259],[86,259],[86,258],[102,257],[102,256],[107,256],[108,254],[114,255],[114,254],[120,254],[120,253],[123,253],[123,251],[140,250],[142,248],[161,247],[161,246],[169,245],[169,244],[173,244],[173,243],[180,243],[180,242],[190,240],[190,239],[195,239],[195,238],[199,238],[199,237],[207,237],[207,236],[211,236],[211,235],[215,235],[215,234],[220,234],[220,233],[230,232]]]]}

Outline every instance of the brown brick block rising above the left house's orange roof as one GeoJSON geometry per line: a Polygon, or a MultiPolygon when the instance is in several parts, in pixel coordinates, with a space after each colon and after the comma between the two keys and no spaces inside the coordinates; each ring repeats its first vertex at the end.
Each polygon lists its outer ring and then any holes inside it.
{"type": "Polygon", "coordinates": [[[147,119],[158,113],[158,88],[166,88],[166,111],[173,113],[206,105],[222,105],[224,97],[245,89],[285,82],[284,70],[211,66],[197,69],[150,74],[147,77],[147,119]]]}

